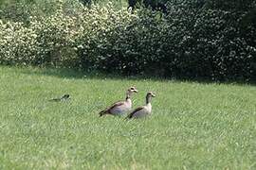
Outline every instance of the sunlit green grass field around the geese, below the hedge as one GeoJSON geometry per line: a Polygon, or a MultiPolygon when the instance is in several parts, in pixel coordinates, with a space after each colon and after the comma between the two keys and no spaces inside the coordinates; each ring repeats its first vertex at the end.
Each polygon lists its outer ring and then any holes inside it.
{"type": "Polygon", "coordinates": [[[256,87],[0,67],[0,169],[255,169],[256,87]],[[145,120],[98,112],[135,85],[145,120]],[[70,93],[69,102],[47,100],[70,93]]]}

